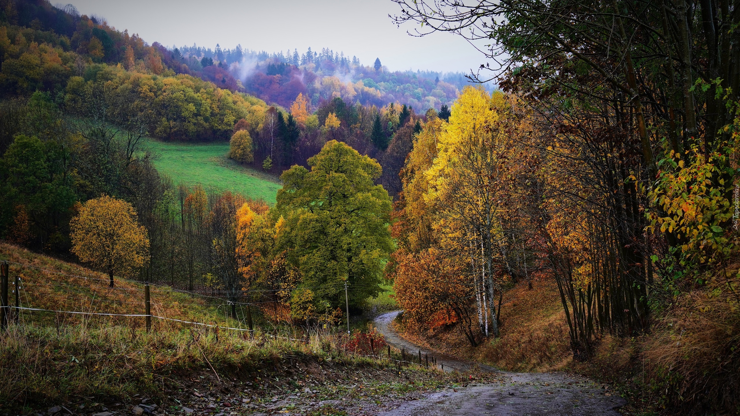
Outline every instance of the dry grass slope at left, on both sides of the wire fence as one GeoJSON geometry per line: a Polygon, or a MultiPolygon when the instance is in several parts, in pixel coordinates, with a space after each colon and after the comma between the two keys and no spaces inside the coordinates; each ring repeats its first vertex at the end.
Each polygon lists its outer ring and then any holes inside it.
{"type": "MultiPolygon", "coordinates": [[[[116,278],[116,287],[111,289],[105,275],[10,244],[0,244],[1,260],[35,267],[10,265],[11,281],[21,275],[21,306],[144,313],[141,284],[116,278]]],[[[226,319],[223,303],[216,299],[166,287],[152,287],[151,299],[155,315],[243,325],[226,319]]],[[[366,358],[348,357],[343,351],[345,336],[329,331],[304,338],[290,326],[270,326],[269,333],[258,328],[250,335],[154,319],[152,332],[147,333],[143,317],[21,311],[19,318],[19,323],[12,323],[0,336],[0,414],[23,406],[64,403],[72,397],[96,397],[102,403],[126,400],[141,392],[164,395],[165,381],[178,383],[178,374],[192,371],[218,372],[223,377],[265,366],[275,369],[291,358],[315,361],[338,355],[352,365],[369,363],[366,358]]]]}

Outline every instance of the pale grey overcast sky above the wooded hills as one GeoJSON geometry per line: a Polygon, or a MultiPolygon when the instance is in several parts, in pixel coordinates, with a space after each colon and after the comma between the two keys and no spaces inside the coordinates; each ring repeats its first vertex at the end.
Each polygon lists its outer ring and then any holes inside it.
{"type": "MultiPolygon", "coordinates": [[[[55,3],[54,0],[53,4],[55,3]]],[[[62,0],[64,1],[64,0],[62,0]]],[[[233,48],[237,44],[269,53],[328,47],[369,65],[380,58],[390,70],[468,73],[485,58],[451,33],[408,36],[413,24],[396,27],[388,14],[400,8],[390,0],[67,0],[81,14],[98,15],[118,30],[168,47],[233,48]]],[[[64,1],[64,4],[67,3],[64,1]]]]}

